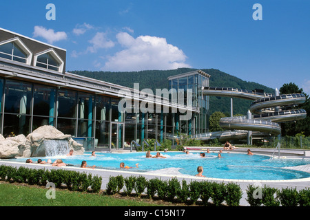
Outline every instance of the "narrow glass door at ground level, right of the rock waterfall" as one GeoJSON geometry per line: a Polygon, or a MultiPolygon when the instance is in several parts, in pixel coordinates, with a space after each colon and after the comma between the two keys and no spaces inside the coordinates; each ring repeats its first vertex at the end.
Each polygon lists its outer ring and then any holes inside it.
{"type": "Polygon", "coordinates": [[[123,149],[124,124],[111,122],[111,150],[123,149]]]}

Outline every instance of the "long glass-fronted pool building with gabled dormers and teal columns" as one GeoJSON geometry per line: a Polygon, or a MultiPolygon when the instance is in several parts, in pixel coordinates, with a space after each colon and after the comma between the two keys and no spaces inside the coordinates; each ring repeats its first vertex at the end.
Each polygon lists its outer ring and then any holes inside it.
{"type": "MultiPolygon", "coordinates": [[[[180,134],[207,132],[208,100],[201,89],[208,75],[201,71],[169,78],[169,89],[184,89],[184,102],[154,96],[147,104],[158,111],[118,111],[121,89],[134,97],[134,89],[65,72],[66,51],[0,28],[0,133],[27,136],[39,126],[50,125],[72,135],[86,151],[124,149],[130,142],[154,138],[178,144],[180,134]],[[192,89],[192,106],[187,106],[192,89]],[[163,111],[163,107],[169,109],[163,111]],[[155,108],[154,108],[155,109],[155,108]],[[180,120],[183,109],[189,120],[180,120]]],[[[136,103],[145,98],[136,98],[136,103]]],[[[134,110],[134,108],[132,107],[134,110]]]]}

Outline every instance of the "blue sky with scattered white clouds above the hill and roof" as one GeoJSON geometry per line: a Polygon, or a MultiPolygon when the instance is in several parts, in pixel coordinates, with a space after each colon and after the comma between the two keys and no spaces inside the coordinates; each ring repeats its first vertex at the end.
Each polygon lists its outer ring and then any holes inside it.
{"type": "Polygon", "coordinates": [[[68,71],[214,68],[310,94],[309,9],[307,0],[12,0],[1,2],[0,27],[65,48],[68,71]]]}

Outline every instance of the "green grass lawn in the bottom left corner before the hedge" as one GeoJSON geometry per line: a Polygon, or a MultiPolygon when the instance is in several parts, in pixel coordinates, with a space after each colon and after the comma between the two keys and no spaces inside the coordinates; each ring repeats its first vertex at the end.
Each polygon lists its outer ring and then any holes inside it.
{"type": "MultiPolygon", "coordinates": [[[[47,188],[22,186],[0,181],[0,206],[158,206],[132,197],[116,198],[109,195],[56,189],[55,199],[47,199],[47,188]]],[[[141,199],[143,200],[143,199],[141,199]]]]}

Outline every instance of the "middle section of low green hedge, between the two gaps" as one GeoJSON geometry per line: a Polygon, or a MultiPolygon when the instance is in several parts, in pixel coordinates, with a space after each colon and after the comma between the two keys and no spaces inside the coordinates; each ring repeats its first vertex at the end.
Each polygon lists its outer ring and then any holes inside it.
{"type": "Polygon", "coordinates": [[[111,176],[107,183],[107,194],[113,195],[120,192],[123,187],[127,195],[131,195],[135,190],[138,196],[146,192],[147,197],[152,199],[163,199],[167,201],[183,202],[193,204],[201,199],[207,206],[211,199],[216,206],[220,206],[226,201],[228,206],[239,206],[242,197],[240,186],[234,183],[218,184],[209,181],[187,181],[183,179],[180,183],[178,179],[145,179],[143,176],[123,177],[122,175],[111,176]]]}

